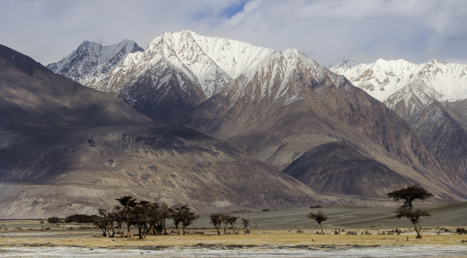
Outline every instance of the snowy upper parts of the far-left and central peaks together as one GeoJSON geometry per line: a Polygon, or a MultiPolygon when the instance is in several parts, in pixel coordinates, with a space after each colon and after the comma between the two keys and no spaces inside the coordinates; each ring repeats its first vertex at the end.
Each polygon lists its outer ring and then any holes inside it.
{"type": "MultiPolygon", "coordinates": [[[[282,103],[300,99],[297,95],[300,89],[288,87],[289,80],[297,79],[296,70],[306,69],[304,76],[318,82],[325,77],[332,78],[336,84],[343,81],[343,76],[336,76],[293,48],[276,51],[227,38],[206,37],[192,31],[163,33],[150,42],[146,51],[130,51],[131,47],[123,49],[127,42],[105,47],[83,42],[67,58],[49,65],[49,69],[115,96],[131,95],[132,85],[145,85],[146,89],[150,87],[156,91],[163,87],[169,94],[168,88],[175,83],[186,96],[198,95],[193,92],[201,91],[206,99],[223,89],[228,91],[233,80],[240,77],[251,80],[258,75],[261,82],[257,83],[262,87],[258,97],[268,96],[268,99],[282,103]],[[113,58],[115,56],[117,58],[113,58]],[[272,85],[279,81],[280,87],[272,91],[272,85]],[[275,96],[271,95],[272,92],[275,96]]],[[[152,98],[163,98],[167,94],[152,98]]],[[[125,99],[129,103],[138,101],[136,96],[125,99]]]]}

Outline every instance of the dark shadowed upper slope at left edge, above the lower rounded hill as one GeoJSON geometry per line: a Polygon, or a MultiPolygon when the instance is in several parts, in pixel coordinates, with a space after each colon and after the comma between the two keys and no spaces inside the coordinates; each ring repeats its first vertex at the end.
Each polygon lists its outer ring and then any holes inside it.
{"type": "Polygon", "coordinates": [[[52,73],[0,46],[1,128],[92,128],[150,121],[110,94],[52,73]]]}

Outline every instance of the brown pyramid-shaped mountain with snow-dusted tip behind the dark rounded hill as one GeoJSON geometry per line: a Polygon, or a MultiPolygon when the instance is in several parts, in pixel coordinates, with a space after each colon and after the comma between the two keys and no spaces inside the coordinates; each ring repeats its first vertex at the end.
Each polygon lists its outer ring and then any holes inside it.
{"type": "MultiPolygon", "coordinates": [[[[464,185],[451,184],[457,176],[436,161],[395,112],[295,49],[270,55],[199,105],[188,126],[225,139],[280,170],[322,144],[347,141],[378,166],[387,166],[386,175],[398,173],[393,178],[401,181],[393,188],[417,182],[442,198],[463,196],[464,185]]],[[[360,178],[353,175],[347,180],[360,178]]],[[[375,176],[362,182],[368,191],[360,193],[383,197],[379,180],[375,176]]],[[[323,189],[318,180],[306,183],[323,189]]],[[[335,183],[329,189],[340,189],[341,182],[335,183]]]]}

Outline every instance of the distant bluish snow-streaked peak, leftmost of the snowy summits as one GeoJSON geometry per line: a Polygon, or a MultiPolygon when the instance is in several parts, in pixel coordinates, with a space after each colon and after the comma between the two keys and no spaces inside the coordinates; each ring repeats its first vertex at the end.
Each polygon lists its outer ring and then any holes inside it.
{"type": "Polygon", "coordinates": [[[144,51],[136,42],[123,40],[118,44],[102,46],[85,41],[59,62],[47,65],[56,74],[66,76],[83,85],[91,86],[105,78],[129,53],[144,51]]]}

